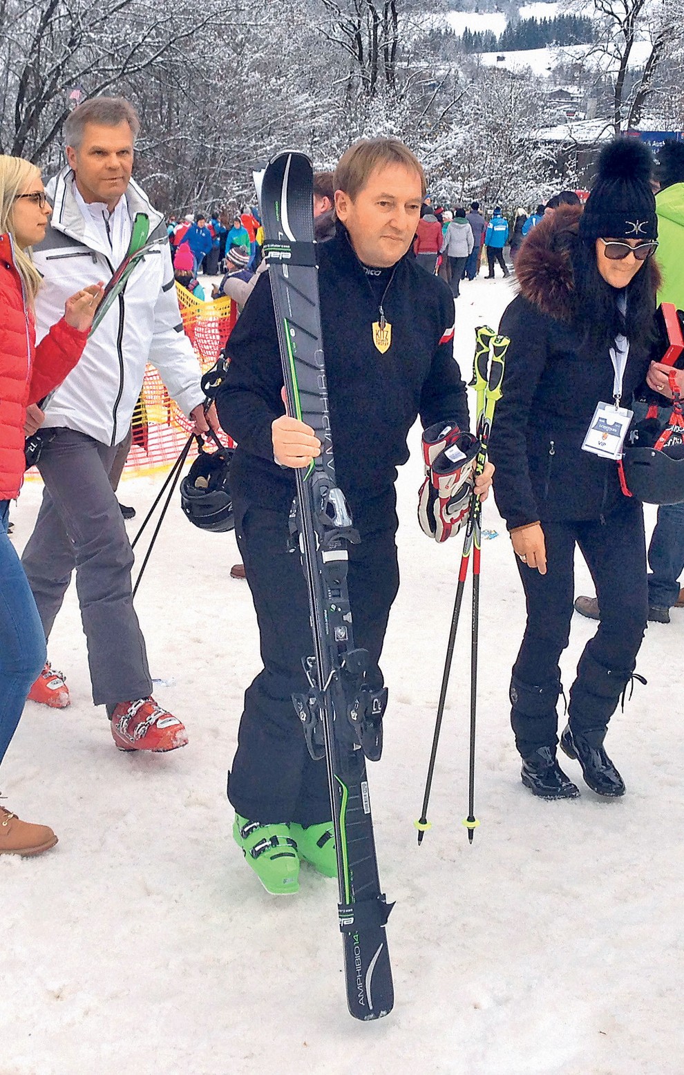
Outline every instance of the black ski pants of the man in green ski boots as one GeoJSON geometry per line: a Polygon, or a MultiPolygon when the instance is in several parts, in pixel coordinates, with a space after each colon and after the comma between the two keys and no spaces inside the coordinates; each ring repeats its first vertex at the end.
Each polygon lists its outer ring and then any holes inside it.
{"type": "MultiPolygon", "coordinates": [[[[368,649],[373,684],[389,608],[399,587],[394,489],[354,513],[361,534],[348,550],[354,642],[368,649]]],[[[309,755],[291,696],[307,690],[302,657],[313,653],[309,599],[299,551],[287,550],[282,512],[236,504],[236,536],[259,625],[263,669],[247,687],[229,773],[228,798],[251,821],[330,820],[325,760],[309,755]]]]}

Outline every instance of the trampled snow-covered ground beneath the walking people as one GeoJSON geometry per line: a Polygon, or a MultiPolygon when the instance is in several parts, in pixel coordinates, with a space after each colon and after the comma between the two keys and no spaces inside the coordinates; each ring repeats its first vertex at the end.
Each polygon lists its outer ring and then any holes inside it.
{"type": "MultiPolygon", "coordinates": [[[[465,284],[457,348],[496,325],[509,284],[465,284]]],[[[518,775],[508,680],[524,604],[494,504],[484,526],[476,815],[467,814],[468,620],[416,846],[460,541],[415,521],[421,462],[399,478],[402,586],[387,633],[385,752],[371,766],[396,1006],[380,1023],[346,1014],[337,889],[303,870],[301,891],[267,895],[230,836],[225,799],[242,691],[259,668],[255,616],[231,535],[194,529],[177,502],[138,610],[159,701],[188,726],[169,756],[118,752],[90,702],[74,591],[51,640],[69,676],[66,712],[29,703],[2,766],[8,804],[52,825],[54,851],[0,860],[0,1075],[679,1075],[684,1032],[682,887],[684,612],[650,627],[637,686],[610,752],[617,802],[533,799],[518,775]]],[[[120,490],[139,519],[156,482],[120,490]]],[[[13,512],[22,546],[38,508],[13,512]]],[[[130,525],[136,532],[137,522],[130,525]]],[[[578,564],[578,592],[592,592],[578,564]]],[[[594,626],[575,617],[570,682],[594,626]]],[[[116,642],[113,640],[113,646],[116,642]]],[[[568,772],[579,778],[576,763],[568,772]]]]}

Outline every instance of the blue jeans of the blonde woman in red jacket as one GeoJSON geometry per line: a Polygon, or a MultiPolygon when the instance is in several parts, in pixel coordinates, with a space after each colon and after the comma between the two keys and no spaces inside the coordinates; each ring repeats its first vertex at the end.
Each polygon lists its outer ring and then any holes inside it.
{"type": "Polygon", "coordinates": [[[10,502],[0,500],[0,761],[46,658],[33,594],[8,538],[9,519],[10,502]]]}

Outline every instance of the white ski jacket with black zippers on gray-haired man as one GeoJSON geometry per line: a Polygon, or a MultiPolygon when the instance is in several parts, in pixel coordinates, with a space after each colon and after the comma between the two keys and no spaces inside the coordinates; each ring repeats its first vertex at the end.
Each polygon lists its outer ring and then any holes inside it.
{"type": "MultiPolygon", "coordinates": [[[[87,227],[73,191],[70,168],[47,185],[53,215],[45,239],[33,250],[44,276],[35,300],[38,340],[62,316],[70,295],[99,280],[106,283],[117,268],[104,240],[96,240],[87,227]]],[[[89,338],[79,364],[49,398],[44,422],[111,445],[128,432],[147,362],[157,368],[186,415],[204,399],[199,362],[183,331],[163,217],[136,183],[129,184],[126,197],[131,218],[146,213],[149,234],[166,241],[137,266],[89,338]]]]}

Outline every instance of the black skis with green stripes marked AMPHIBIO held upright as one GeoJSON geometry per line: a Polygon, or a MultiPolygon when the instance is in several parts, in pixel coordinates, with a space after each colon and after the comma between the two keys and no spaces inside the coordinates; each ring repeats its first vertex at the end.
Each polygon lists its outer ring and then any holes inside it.
{"type": "Polygon", "coordinates": [[[296,471],[290,530],[301,549],[314,654],[303,659],[310,689],[293,701],[312,758],[327,764],[348,1008],[356,1019],[377,1019],[394,1003],[385,935],[391,904],[377,876],[366,758],[381,755],[387,691],[367,682],[369,656],[352,633],[347,545],[359,539],[334,478],[309,158],[274,157],[261,176],[260,203],[287,410],[323,445],[307,471],[296,471]]]}

